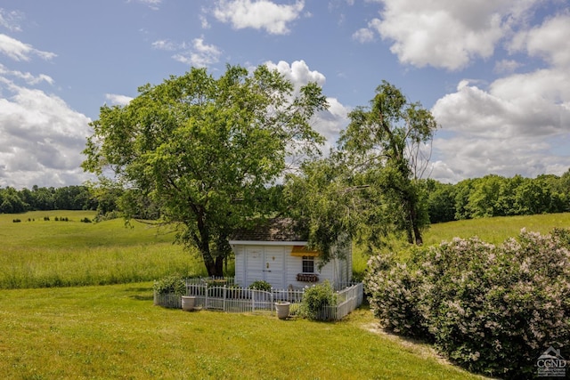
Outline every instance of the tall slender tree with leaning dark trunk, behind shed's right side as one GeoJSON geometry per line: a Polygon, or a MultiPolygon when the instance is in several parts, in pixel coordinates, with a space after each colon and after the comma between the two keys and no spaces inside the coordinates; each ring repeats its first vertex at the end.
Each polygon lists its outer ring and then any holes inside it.
{"type": "Polygon", "coordinates": [[[421,244],[428,202],[419,178],[427,167],[435,117],[386,81],[369,107],[356,108],[349,117],[340,150],[351,160],[354,173],[364,174],[387,198],[395,228],[406,231],[410,243],[421,244]]]}

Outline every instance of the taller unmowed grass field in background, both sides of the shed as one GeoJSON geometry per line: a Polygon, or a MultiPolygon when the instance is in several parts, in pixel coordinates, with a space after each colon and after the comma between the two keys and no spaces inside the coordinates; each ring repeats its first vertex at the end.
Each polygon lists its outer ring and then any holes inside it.
{"type": "MultiPolygon", "coordinates": [[[[133,222],[134,227],[129,228],[122,219],[80,222],[94,215],[89,211],[0,214],[0,289],[129,283],[173,273],[206,276],[196,255],[173,244],[172,231],[141,222],[133,222]],[[61,222],[61,218],[68,222],[61,222]],[[12,222],[14,219],[21,222],[12,222]]],[[[570,213],[438,223],[426,231],[424,241],[433,245],[454,237],[478,236],[500,244],[516,237],[522,228],[547,233],[554,227],[570,228],[570,213]]],[[[355,247],[356,279],[362,278],[367,261],[368,256],[355,247]]],[[[232,261],[228,273],[233,273],[232,261]]]]}

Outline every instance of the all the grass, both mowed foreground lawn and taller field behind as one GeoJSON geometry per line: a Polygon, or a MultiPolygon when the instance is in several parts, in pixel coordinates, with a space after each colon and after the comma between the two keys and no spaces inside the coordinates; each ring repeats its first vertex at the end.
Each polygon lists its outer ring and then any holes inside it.
{"type": "MultiPolygon", "coordinates": [[[[79,222],[85,216],[94,214],[0,215],[3,378],[479,378],[426,344],[371,331],[376,323],[366,308],[323,323],[153,306],[151,279],[203,274],[202,264],[165,231],[79,222]]],[[[555,226],[570,226],[570,214],[436,224],[425,241],[477,235],[500,243],[523,227],[555,226]]],[[[355,271],[365,261],[356,255],[355,271]]]]}

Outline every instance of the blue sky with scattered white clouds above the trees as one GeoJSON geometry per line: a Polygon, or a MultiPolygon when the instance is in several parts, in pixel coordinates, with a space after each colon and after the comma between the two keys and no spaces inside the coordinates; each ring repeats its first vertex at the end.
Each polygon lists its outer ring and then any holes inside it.
{"type": "Polygon", "coordinates": [[[0,187],[92,180],[103,104],[227,64],[322,85],[325,149],[386,80],[436,117],[430,178],[570,168],[568,0],[2,0],[0,187]]]}

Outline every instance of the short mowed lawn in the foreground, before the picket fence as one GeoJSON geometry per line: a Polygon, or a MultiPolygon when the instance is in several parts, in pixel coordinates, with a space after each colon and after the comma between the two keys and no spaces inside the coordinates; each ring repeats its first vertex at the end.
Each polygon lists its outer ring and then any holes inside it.
{"type": "Polygon", "coordinates": [[[469,379],[425,347],[336,323],[152,305],[151,283],[0,292],[7,379],[469,379]]]}

